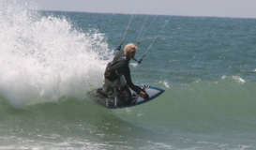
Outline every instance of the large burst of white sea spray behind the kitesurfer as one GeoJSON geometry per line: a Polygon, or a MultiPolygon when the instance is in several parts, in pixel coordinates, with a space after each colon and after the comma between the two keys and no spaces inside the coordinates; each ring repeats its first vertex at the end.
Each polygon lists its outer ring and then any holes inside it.
{"type": "Polygon", "coordinates": [[[98,79],[102,79],[106,59],[113,57],[103,34],[97,30],[83,33],[68,19],[41,17],[29,6],[9,3],[1,1],[0,5],[3,98],[21,107],[36,99],[83,98],[92,85],[101,85],[98,79]]]}

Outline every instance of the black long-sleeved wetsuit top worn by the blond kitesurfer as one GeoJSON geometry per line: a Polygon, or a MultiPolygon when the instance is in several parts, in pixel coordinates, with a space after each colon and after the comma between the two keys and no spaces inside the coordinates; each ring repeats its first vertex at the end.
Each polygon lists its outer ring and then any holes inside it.
{"type": "Polygon", "coordinates": [[[106,71],[107,71],[107,69],[106,69],[105,78],[110,81],[114,81],[114,80],[117,80],[118,78],[120,78],[121,75],[124,75],[125,79],[127,81],[128,87],[131,88],[137,94],[140,94],[140,92],[143,90],[131,82],[128,62],[129,62],[128,56],[126,56],[123,51],[118,52],[114,56],[111,69],[109,70],[111,75],[106,76],[106,71]]]}

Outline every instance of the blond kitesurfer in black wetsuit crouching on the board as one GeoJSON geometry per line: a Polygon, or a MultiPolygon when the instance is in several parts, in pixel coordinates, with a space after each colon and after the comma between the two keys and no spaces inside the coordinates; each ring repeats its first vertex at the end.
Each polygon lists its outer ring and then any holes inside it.
{"type": "Polygon", "coordinates": [[[128,63],[130,59],[134,58],[137,50],[137,46],[130,43],[126,45],[124,51],[118,52],[113,61],[107,65],[103,78],[103,91],[108,95],[108,98],[115,98],[117,87],[120,86],[120,90],[124,91],[127,85],[141,98],[146,96],[142,88],[134,85],[130,78],[128,63]]]}

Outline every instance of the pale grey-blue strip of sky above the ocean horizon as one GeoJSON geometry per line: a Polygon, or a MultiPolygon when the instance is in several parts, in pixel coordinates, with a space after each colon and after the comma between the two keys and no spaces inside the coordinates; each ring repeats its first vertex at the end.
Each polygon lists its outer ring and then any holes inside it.
{"type": "Polygon", "coordinates": [[[256,0],[29,0],[41,10],[256,18],[256,0]]]}

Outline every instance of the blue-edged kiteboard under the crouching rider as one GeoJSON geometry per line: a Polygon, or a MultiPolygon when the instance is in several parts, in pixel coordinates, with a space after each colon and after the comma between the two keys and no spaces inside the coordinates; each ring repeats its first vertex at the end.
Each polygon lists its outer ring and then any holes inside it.
{"type": "Polygon", "coordinates": [[[146,93],[145,98],[141,98],[136,92],[131,90],[130,88],[125,88],[125,93],[117,92],[115,98],[108,98],[108,96],[103,92],[102,88],[95,89],[93,91],[88,92],[88,95],[91,95],[93,100],[98,104],[108,108],[108,109],[120,109],[127,108],[132,106],[137,106],[143,104],[145,102],[151,101],[154,98],[158,98],[165,90],[150,86],[150,85],[141,85],[138,84],[146,93]]]}

